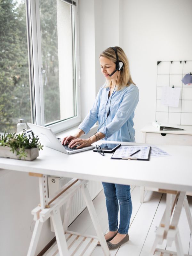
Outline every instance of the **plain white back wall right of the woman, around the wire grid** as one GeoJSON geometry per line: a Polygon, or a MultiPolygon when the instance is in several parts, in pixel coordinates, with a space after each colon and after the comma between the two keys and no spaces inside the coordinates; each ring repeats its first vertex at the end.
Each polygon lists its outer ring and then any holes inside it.
{"type": "Polygon", "coordinates": [[[136,141],[140,129],[155,121],[158,60],[192,60],[191,0],[123,0],[122,48],[140,90],[135,111],[136,141]]]}

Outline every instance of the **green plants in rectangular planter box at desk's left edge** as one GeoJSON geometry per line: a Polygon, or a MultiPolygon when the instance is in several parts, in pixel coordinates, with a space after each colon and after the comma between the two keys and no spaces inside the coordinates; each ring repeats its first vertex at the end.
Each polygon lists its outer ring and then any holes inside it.
{"type": "Polygon", "coordinates": [[[43,145],[39,142],[38,136],[25,136],[16,133],[4,133],[0,135],[0,156],[13,159],[24,159],[32,161],[39,156],[39,150],[43,145]]]}

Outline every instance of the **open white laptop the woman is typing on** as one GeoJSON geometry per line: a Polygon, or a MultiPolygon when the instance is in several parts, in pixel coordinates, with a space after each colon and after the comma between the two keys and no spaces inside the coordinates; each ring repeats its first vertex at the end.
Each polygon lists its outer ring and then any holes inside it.
{"type": "Polygon", "coordinates": [[[62,145],[60,139],[58,139],[50,128],[39,126],[36,124],[27,123],[35,135],[39,136],[40,142],[49,148],[53,148],[65,154],[74,154],[85,150],[93,149],[95,146],[88,146],[84,148],[68,148],[67,145],[62,145]]]}

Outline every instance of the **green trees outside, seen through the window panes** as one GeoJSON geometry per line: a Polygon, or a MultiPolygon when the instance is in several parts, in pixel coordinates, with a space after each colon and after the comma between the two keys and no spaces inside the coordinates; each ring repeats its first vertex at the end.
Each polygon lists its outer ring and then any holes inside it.
{"type": "MultiPolygon", "coordinates": [[[[45,123],[60,120],[57,2],[41,0],[45,123]]],[[[33,123],[25,0],[0,0],[0,132],[15,132],[19,118],[33,123]]]]}

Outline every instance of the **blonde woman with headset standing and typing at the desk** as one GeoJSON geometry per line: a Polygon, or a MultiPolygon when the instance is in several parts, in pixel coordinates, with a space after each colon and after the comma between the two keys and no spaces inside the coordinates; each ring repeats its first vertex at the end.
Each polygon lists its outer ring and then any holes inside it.
{"type": "MultiPolygon", "coordinates": [[[[139,90],[133,83],[129,62],[120,47],[109,47],[100,54],[101,72],[106,83],[101,86],[95,103],[79,125],[74,136],[63,138],[62,144],[82,148],[100,139],[135,142],[134,110],[139,101],[139,90]],[[80,139],[99,122],[98,131],[88,139],[80,139]]],[[[109,249],[116,249],[129,240],[128,229],[132,214],[130,186],[102,182],[106,196],[109,232],[105,235],[109,249]],[[118,228],[118,201],[120,223],[118,228]]]]}

